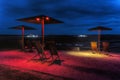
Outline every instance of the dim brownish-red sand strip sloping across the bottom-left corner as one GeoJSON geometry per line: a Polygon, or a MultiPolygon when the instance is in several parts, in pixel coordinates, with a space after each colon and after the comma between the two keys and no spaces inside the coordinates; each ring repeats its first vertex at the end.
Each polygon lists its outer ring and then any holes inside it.
{"type": "Polygon", "coordinates": [[[67,78],[32,70],[20,70],[9,65],[0,65],[0,80],[67,80],[67,78]]]}

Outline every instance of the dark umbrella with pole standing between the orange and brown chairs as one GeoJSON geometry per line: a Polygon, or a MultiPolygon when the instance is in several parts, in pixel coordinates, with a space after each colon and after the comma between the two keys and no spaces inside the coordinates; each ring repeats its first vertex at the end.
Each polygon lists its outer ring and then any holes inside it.
{"type": "Polygon", "coordinates": [[[103,26],[97,26],[94,28],[88,29],[89,31],[98,31],[98,50],[100,51],[100,37],[101,37],[101,31],[103,30],[112,30],[112,28],[103,27],[103,26]]]}

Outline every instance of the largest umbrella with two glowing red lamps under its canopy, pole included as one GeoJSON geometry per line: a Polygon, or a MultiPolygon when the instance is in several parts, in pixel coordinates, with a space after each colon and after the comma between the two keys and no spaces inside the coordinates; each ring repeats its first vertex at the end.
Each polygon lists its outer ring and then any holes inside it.
{"type": "Polygon", "coordinates": [[[18,21],[24,21],[29,23],[35,23],[35,24],[42,24],[41,34],[42,34],[42,45],[44,45],[44,24],[57,24],[57,23],[63,23],[62,21],[56,20],[52,17],[48,17],[45,15],[38,15],[28,18],[21,18],[18,19],[18,21]]]}

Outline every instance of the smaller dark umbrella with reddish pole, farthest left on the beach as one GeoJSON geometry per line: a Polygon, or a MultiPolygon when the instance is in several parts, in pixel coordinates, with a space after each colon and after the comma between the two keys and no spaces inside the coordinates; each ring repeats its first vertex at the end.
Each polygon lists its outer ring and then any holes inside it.
{"type": "Polygon", "coordinates": [[[25,26],[25,25],[18,25],[15,27],[10,27],[9,29],[22,30],[22,49],[24,49],[24,30],[36,30],[35,28],[25,26]]]}

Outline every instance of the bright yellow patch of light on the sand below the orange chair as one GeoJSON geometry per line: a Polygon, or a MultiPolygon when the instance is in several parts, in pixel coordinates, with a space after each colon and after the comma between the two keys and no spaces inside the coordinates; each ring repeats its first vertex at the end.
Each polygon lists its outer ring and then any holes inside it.
{"type": "Polygon", "coordinates": [[[67,54],[72,55],[72,56],[78,56],[78,57],[90,57],[90,58],[103,58],[103,57],[107,57],[107,55],[104,54],[93,54],[91,51],[82,51],[82,52],[78,52],[78,51],[69,51],[67,52],[67,54]]]}

